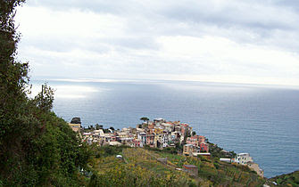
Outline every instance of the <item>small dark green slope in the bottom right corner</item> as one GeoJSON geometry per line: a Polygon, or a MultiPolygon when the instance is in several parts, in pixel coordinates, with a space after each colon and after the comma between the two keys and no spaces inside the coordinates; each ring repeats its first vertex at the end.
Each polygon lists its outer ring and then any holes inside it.
{"type": "Polygon", "coordinates": [[[278,186],[299,186],[299,171],[275,176],[270,178],[270,182],[275,182],[278,186]]]}

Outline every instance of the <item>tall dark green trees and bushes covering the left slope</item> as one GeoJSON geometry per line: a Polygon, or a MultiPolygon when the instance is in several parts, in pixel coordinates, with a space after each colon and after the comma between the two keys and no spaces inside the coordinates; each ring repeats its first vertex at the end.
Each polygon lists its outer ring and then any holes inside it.
{"type": "Polygon", "coordinates": [[[51,112],[50,87],[28,97],[29,64],[16,60],[20,34],[13,17],[23,2],[0,1],[0,186],[81,186],[87,146],[51,112]]]}

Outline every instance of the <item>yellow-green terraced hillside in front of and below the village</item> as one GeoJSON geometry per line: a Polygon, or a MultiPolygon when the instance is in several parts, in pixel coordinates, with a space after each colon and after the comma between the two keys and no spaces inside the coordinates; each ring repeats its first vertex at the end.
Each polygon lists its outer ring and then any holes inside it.
{"type": "Polygon", "coordinates": [[[163,150],[128,147],[94,147],[89,163],[94,175],[90,186],[262,186],[265,180],[248,167],[218,160],[191,158],[163,150]],[[116,158],[122,155],[123,159],[116,158]],[[167,158],[167,164],[158,161],[167,158]],[[177,170],[198,167],[198,177],[177,170]]]}

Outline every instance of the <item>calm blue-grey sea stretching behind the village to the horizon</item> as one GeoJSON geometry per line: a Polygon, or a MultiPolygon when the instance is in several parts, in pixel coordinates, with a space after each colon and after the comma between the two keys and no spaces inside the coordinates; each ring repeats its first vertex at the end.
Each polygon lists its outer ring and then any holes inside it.
{"type": "Polygon", "coordinates": [[[299,88],[140,81],[48,85],[56,89],[54,111],[67,121],[80,117],[83,126],[122,128],[144,116],[180,120],[225,150],[249,152],[266,177],[299,169],[299,88]]]}

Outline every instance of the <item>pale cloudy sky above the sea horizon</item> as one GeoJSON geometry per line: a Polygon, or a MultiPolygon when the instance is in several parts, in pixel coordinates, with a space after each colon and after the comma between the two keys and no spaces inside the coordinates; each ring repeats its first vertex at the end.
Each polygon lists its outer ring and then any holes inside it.
{"type": "Polygon", "coordinates": [[[28,0],[31,77],[299,85],[297,0],[28,0]]]}

